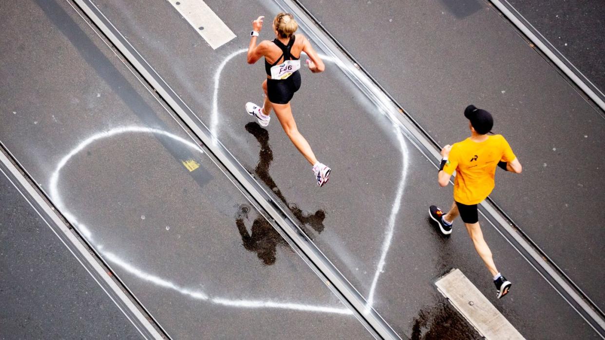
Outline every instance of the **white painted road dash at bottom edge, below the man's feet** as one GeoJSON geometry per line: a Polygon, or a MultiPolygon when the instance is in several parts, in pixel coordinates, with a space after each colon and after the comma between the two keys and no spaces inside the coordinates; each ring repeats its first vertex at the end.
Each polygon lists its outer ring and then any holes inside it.
{"type": "Polygon", "coordinates": [[[435,285],[486,339],[523,339],[521,333],[462,274],[460,269],[449,272],[435,285]]]}

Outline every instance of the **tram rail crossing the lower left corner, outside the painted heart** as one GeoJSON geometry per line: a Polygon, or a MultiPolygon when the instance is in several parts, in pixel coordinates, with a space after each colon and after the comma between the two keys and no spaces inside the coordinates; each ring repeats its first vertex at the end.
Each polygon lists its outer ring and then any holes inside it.
{"type": "Polygon", "coordinates": [[[71,254],[76,257],[77,261],[90,274],[94,281],[103,289],[110,297],[118,309],[128,318],[132,325],[139,331],[145,339],[163,339],[162,335],[152,326],[151,322],[140,312],[140,310],[132,303],[130,298],[120,289],[118,284],[110,277],[103,267],[97,262],[93,255],[90,254],[87,248],[77,239],[70,231],[67,225],[54,213],[53,208],[45,202],[42,196],[34,189],[27,181],[25,176],[19,172],[19,169],[13,165],[3,152],[0,151],[0,162],[8,170],[5,172],[0,167],[2,175],[6,176],[8,181],[21,193],[27,200],[34,211],[41,217],[48,228],[59,237],[59,240],[67,247],[71,254]],[[12,178],[17,182],[15,183],[12,178]],[[23,190],[25,191],[23,191],[23,190]],[[35,202],[32,202],[32,200],[35,202]],[[49,222],[50,220],[50,222],[49,222]]]}

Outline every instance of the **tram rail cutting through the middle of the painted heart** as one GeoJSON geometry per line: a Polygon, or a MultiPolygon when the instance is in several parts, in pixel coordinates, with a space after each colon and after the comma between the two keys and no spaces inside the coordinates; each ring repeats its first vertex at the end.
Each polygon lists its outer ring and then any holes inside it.
{"type": "MultiPolygon", "coordinates": [[[[374,336],[385,339],[397,339],[399,336],[387,324],[386,321],[374,310],[368,308],[367,301],[353,285],[338,271],[336,266],[316,247],[316,245],[304,234],[271,196],[264,191],[260,184],[245,170],[237,159],[227,150],[220,141],[215,138],[194,112],[180,100],[177,94],[168,86],[148,62],[132,47],[125,37],[111,24],[101,11],[90,0],[73,0],[73,2],[85,13],[88,18],[105,34],[106,38],[122,53],[142,77],[154,88],[160,97],[166,101],[175,114],[197,135],[212,154],[223,164],[231,175],[245,188],[258,204],[269,214],[272,222],[286,233],[290,240],[295,242],[316,269],[327,278],[327,284],[335,287],[343,303],[352,309],[353,314],[374,336]],[[188,113],[191,113],[191,115],[188,113]],[[192,115],[195,118],[192,118],[192,115]],[[197,119],[195,121],[194,119],[197,119]]],[[[307,262],[309,263],[309,262],[307,262]]],[[[334,291],[334,290],[333,290],[334,291]]]]}

